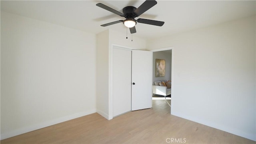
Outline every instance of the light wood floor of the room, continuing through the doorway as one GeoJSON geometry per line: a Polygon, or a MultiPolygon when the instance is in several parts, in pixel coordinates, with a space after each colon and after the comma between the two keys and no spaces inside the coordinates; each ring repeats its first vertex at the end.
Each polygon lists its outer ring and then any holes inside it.
{"type": "Polygon", "coordinates": [[[184,138],[186,143],[193,144],[256,143],[222,130],[172,116],[165,100],[153,100],[153,108],[150,109],[128,112],[112,120],[106,120],[94,113],[1,140],[1,144],[166,144],[175,142],[171,141],[174,139],[176,143],[178,140],[184,143],[184,138]]]}

